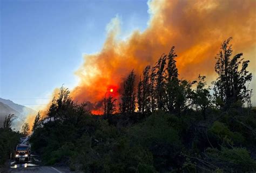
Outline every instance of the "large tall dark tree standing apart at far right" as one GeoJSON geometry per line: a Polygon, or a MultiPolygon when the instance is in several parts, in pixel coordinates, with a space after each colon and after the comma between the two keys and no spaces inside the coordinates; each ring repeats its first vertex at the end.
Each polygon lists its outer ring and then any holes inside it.
{"type": "Polygon", "coordinates": [[[242,53],[231,58],[233,53],[232,45],[229,45],[231,39],[228,38],[224,41],[217,54],[215,72],[218,74],[218,78],[213,82],[217,104],[224,109],[239,102],[242,106],[245,98],[250,95],[246,82],[252,80],[252,73],[246,70],[250,61],[243,61],[242,53]]]}

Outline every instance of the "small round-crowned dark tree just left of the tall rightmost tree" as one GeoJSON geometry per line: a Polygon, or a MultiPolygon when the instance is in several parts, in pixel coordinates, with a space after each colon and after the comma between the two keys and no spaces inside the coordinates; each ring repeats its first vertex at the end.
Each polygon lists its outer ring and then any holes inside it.
{"type": "Polygon", "coordinates": [[[193,103],[201,109],[204,119],[206,119],[206,109],[211,105],[210,88],[205,86],[205,76],[199,75],[196,91],[192,94],[193,103]]]}

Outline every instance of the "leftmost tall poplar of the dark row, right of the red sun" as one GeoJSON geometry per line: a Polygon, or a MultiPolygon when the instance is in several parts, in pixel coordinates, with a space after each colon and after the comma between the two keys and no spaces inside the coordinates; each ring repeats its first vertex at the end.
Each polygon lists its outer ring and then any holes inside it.
{"type": "Polygon", "coordinates": [[[135,78],[136,75],[132,70],[127,79],[124,81],[124,92],[122,94],[122,113],[133,113],[135,110],[135,78]]]}

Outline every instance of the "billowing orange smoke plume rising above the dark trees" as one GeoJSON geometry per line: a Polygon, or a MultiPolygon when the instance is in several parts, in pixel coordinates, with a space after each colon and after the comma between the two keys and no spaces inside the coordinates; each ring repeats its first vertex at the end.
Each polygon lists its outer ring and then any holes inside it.
{"type": "Polygon", "coordinates": [[[214,77],[215,54],[228,37],[234,38],[234,51],[243,51],[255,64],[255,1],[159,0],[148,5],[151,18],[145,31],[120,40],[119,19],[112,19],[102,50],[86,55],[76,72],[80,82],[71,96],[78,102],[90,101],[93,113],[102,113],[100,106],[109,89],[114,87],[119,98],[122,81],[132,69],[138,77],[173,45],[180,77],[188,80],[198,74],[214,77]]]}

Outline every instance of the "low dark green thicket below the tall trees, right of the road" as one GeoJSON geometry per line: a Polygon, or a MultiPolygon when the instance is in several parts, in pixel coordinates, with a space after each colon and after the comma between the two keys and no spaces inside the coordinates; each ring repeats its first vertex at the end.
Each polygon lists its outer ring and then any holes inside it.
{"type": "Polygon", "coordinates": [[[70,170],[88,173],[196,172],[204,168],[239,172],[255,164],[246,149],[232,148],[248,147],[247,144],[253,148],[253,142],[247,140],[253,138],[248,136],[251,129],[246,127],[253,129],[252,115],[244,119],[241,115],[235,121],[230,113],[211,109],[206,120],[199,118],[194,110],[180,115],[163,111],[145,116],[119,114],[104,120],[81,112],[77,105],[63,109],[56,121],[47,121],[33,132],[32,150],[43,156],[44,163],[69,164],[70,170]],[[221,122],[212,124],[220,113],[223,113],[221,122]],[[218,149],[207,149],[206,157],[204,151],[211,145],[218,149]],[[191,156],[190,160],[181,151],[191,156]],[[216,167],[208,168],[197,158],[216,167]]]}

